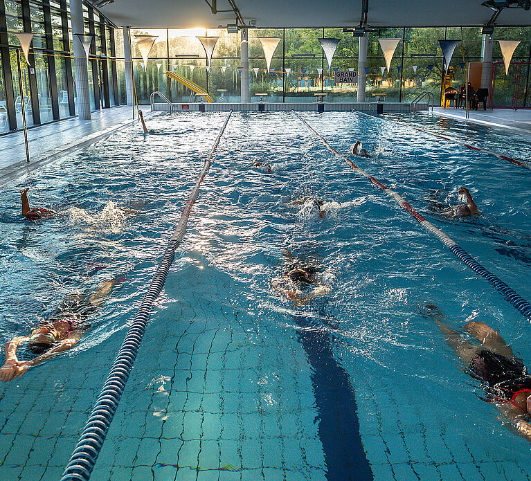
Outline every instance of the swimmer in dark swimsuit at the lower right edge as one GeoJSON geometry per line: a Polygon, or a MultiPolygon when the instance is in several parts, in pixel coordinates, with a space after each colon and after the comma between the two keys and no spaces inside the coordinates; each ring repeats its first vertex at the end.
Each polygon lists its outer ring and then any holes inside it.
{"type": "Polygon", "coordinates": [[[483,384],[485,401],[493,403],[518,433],[531,441],[531,374],[510,345],[492,327],[476,320],[465,325],[469,336],[463,336],[447,324],[433,304],[421,314],[435,320],[465,372],[483,384]],[[474,343],[469,338],[474,338],[474,343]]]}

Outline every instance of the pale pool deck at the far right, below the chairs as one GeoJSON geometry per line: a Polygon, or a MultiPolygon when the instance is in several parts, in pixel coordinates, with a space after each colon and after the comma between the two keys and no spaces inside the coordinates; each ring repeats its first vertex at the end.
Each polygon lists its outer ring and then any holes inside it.
{"type": "MultiPolygon", "coordinates": [[[[431,113],[431,111],[430,111],[431,113]]],[[[492,129],[501,129],[524,135],[531,135],[531,110],[487,109],[469,110],[469,118],[465,118],[465,109],[435,107],[433,114],[448,118],[456,118],[464,122],[485,125],[492,129]]]]}

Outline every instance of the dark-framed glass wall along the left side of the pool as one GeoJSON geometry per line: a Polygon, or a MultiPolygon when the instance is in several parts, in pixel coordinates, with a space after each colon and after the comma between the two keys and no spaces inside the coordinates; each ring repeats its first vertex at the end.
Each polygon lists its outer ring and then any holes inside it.
{"type": "MultiPolygon", "coordinates": [[[[0,8],[6,11],[6,16],[0,18],[1,55],[8,57],[10,64],[6,71],[4,61],[4,69],[0,70],[0,132],[20,129],[23,111],[29,126],[75,115],[68,0],[0,0],[0,8]],[[19,32],[33,33],[27,62],[21,53],[21,82],[17,66],[20,44],[15,35],[19,32]]],[[[84,5],[84,18],[85,33],[96,35],[89,62],[89,68],[95,69],[89,78],[91,106],[98,109],[117,105],[115,26],[89,3],[84,5]]]]}

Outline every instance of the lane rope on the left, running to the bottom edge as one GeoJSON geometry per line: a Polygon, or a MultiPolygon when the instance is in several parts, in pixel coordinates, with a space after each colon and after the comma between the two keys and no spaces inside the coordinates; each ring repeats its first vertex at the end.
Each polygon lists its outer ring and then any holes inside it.
{"type": "Polygon", "coordinates": [[[231,118],[232,113],[232,110],[228,112],[223,127],[219,131],[212,149],[210,149],[203,170],[181,214],[179,224],[177,224],[177,228],[175,228],[172,238],[168,242],[168,246],[166,246],[166,250],[159,266],[156,268],[150,287],[147,293],[145,293],[132,325],[125,335],[118,356],[116,356],[116,361],[114,361],[111,367],[111,372],[109,372],[107,381],[103,385],[100,396],[93,407],[87,424],[78,440],[78,444],[75,446],[70,457],[69,463],[63,471],[61,481],[87,481],[90,478],[103,442],[105,442],[107,430],[109,430],[116,408],[118,408],[125,383],[127,383],[129,374],[131,374],[136,354],[138,354],[138,349],[140,348],[145,328],[147,327],[147,321],[150,318],[153,302],[159,297],[166,278],[168,278],[168,272],[175,258],[175,251],[177,251],[179,244],[181,244],[184,231],[186,230],[186,224],[188,224],[188,217],[190,217],[190,211],[195,203],[195,199],[197,199],[199,186],[210,168],[214,152],[219,145],[219,140],[222,138],[228,119],[231,118]]]}

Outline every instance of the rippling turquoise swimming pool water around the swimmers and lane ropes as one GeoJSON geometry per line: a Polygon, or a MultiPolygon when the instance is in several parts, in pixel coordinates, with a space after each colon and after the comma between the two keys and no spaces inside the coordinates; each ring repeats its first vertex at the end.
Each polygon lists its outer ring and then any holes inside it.
{"type": "MultiPolygon", "coordinates": [[[[340,152],[362,140],[363,170],[531,298],[529,170],[383,119],[301,115],[340,152]],[[460,185],[481,219],[429,207],[460,185]]],[[[158,116],[159,135],[121,131],[0,191],[3,342],[127,278],[71,352],[0,386],[2,478],[60,476],[225,116],[158,116]],[[56,219],[21,221],[27,185],[56,219]]],[[[520,136],[447,129],[529,159],[520,136]]],[[[417,314],[429,302],[531,360],[528,320],[299,120],[233,114],[91,479],[528,479],[529,442],[417,314]],[[300,214],[306,196],[325,219],[300,214]],[[318,267],[323,296],[296,306],[273,289],[286,250],[318,267]]]]}

